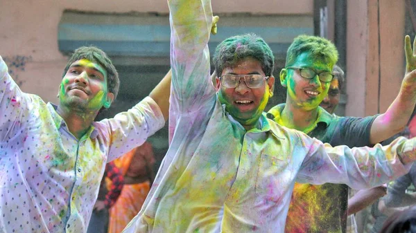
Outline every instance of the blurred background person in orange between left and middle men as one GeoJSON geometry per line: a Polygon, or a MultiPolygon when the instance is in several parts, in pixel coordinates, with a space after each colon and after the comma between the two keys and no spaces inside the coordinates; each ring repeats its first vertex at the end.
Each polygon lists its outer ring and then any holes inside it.
{"type": "Polygon", "coordinates": [[[124,186],[119,199],[110,208],[108,232],[120,233],[140,211],[155,179],[153,147],[145,142],[114,162],[124,176],[124,186]]]}

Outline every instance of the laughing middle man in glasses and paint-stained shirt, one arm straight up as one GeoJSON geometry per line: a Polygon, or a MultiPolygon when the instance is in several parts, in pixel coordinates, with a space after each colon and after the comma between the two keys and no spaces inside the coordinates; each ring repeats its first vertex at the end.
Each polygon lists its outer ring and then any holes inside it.
{"type": "Polygon", "coordinates": [[[211,1],[168,6],[171,141],[141,211],[123,232],[283,232],[295,180],[371,187],[406,173],[416,159],[416,138],[331,147],[267,119],[274,57],[257,35],[217,46],[214,88],[211,1]]]}

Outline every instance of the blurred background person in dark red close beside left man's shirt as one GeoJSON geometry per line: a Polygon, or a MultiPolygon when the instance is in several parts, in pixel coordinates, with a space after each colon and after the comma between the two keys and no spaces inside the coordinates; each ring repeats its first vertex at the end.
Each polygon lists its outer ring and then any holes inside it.
{"type": "Polygon", "coordinates": [[[108,228],[109,209],[116,203],[123,189],[124,178],[121,171],[109,162],[105,165],[98,198],[89,220],[87,233],[105,233],[108,228]]]}

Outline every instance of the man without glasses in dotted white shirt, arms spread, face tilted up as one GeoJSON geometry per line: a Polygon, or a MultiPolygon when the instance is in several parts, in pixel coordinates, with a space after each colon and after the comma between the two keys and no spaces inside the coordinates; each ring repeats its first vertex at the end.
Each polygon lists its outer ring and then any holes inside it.
{"type": "Polygon", "coordinates": [[[87,232],[105,164],[164,126],[170,77],[129,111],[94,122],[119,91],[102,50],[75,50],[58,106],[22,92],[0,57],[0,232],[87,232]]]}

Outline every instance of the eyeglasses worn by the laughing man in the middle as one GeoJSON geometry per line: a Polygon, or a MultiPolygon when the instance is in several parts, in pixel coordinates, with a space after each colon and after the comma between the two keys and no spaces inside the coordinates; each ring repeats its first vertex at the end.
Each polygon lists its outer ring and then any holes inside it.
{"type": "Polygon", "coordinates": [[[263,85],[264,80],[268,80],[268,76],[263,75],[223,75],[218,77],[221,81],[221,85],[226,88],[236,88],[239,86],[240,79],[243,77],[245,85],[249,88],[259,88],[263,85]]]}

